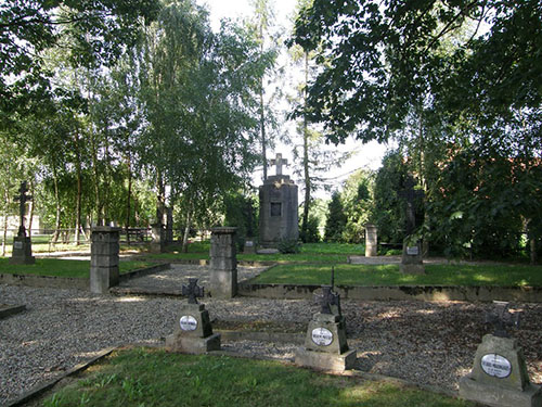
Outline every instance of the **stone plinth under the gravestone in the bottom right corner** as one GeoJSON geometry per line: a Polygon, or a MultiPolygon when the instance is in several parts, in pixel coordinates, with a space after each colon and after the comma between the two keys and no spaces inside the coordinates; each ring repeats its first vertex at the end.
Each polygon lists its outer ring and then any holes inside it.
{"type": "Polygon", "coordinates": [[[528,384],[524,391],[488,385],[466,376],[460,380],[460,397],[491,407],[542,407],[542,387],[528,384]]]}

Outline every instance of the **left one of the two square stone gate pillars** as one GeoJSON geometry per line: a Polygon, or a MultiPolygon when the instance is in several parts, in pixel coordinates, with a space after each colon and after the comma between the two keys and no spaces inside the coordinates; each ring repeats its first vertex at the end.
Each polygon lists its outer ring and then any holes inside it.
{"type": "Polygon", "coordinates": [[[90,291],[105,294],[118,284],[120,228],[98,226],[90,237],[90,291]]]}

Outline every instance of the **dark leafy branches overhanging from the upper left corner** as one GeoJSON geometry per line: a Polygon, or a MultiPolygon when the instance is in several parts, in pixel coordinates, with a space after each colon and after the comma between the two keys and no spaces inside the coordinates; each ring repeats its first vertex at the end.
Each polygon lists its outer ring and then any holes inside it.
{"type": "Polygon", "coordinates": [[[0,124],[29,112],[61,89],[51,87],[43,51],[69,36],[64,49],[74,66],[111,64],[139,36],[152,0],[24,0],[0,7],[0,124]]]}

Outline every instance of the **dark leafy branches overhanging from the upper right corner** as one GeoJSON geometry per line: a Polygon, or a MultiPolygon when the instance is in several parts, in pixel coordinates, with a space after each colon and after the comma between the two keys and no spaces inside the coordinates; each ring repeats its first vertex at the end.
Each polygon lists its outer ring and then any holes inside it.
{"type": "MultiPolygon", "coordinates": [[[[540,123],[542,65],[533,58],[541,18],[535,0],[392,0],[386,7],[315,0],[298,17],[294,38],[307,50],[322,47],[320,60],[330,61],[309,91],[311,118],[335,143],[349,133],[387,140],[416,109],[449,123],[466,114],[478,129],[492,124],[480,133],[486,142],[498,129],[505,133],[503,119],[540,123]],[[487,34],[482,25],[490,26],[487,34]],[[456,36],[460,30],[467,35],[456,36]],[[452,49],[451,36],[461,38],[452,49]]],[[[540,131],[524,135],[540,141],[540,131]]]]}

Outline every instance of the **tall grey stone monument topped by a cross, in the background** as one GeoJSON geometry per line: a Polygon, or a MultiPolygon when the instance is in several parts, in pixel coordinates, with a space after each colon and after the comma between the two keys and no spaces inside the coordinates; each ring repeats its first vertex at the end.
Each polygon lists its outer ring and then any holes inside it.
{"type": "Polygon", "coordinates": [[[276,247],[283,240],[299,239],[297,186],[282,174],[287,160],[276,154],[271,164],[276,166],[276,175],[268,177],[259,188],[259,244],[264,249],[276,247]]]}

